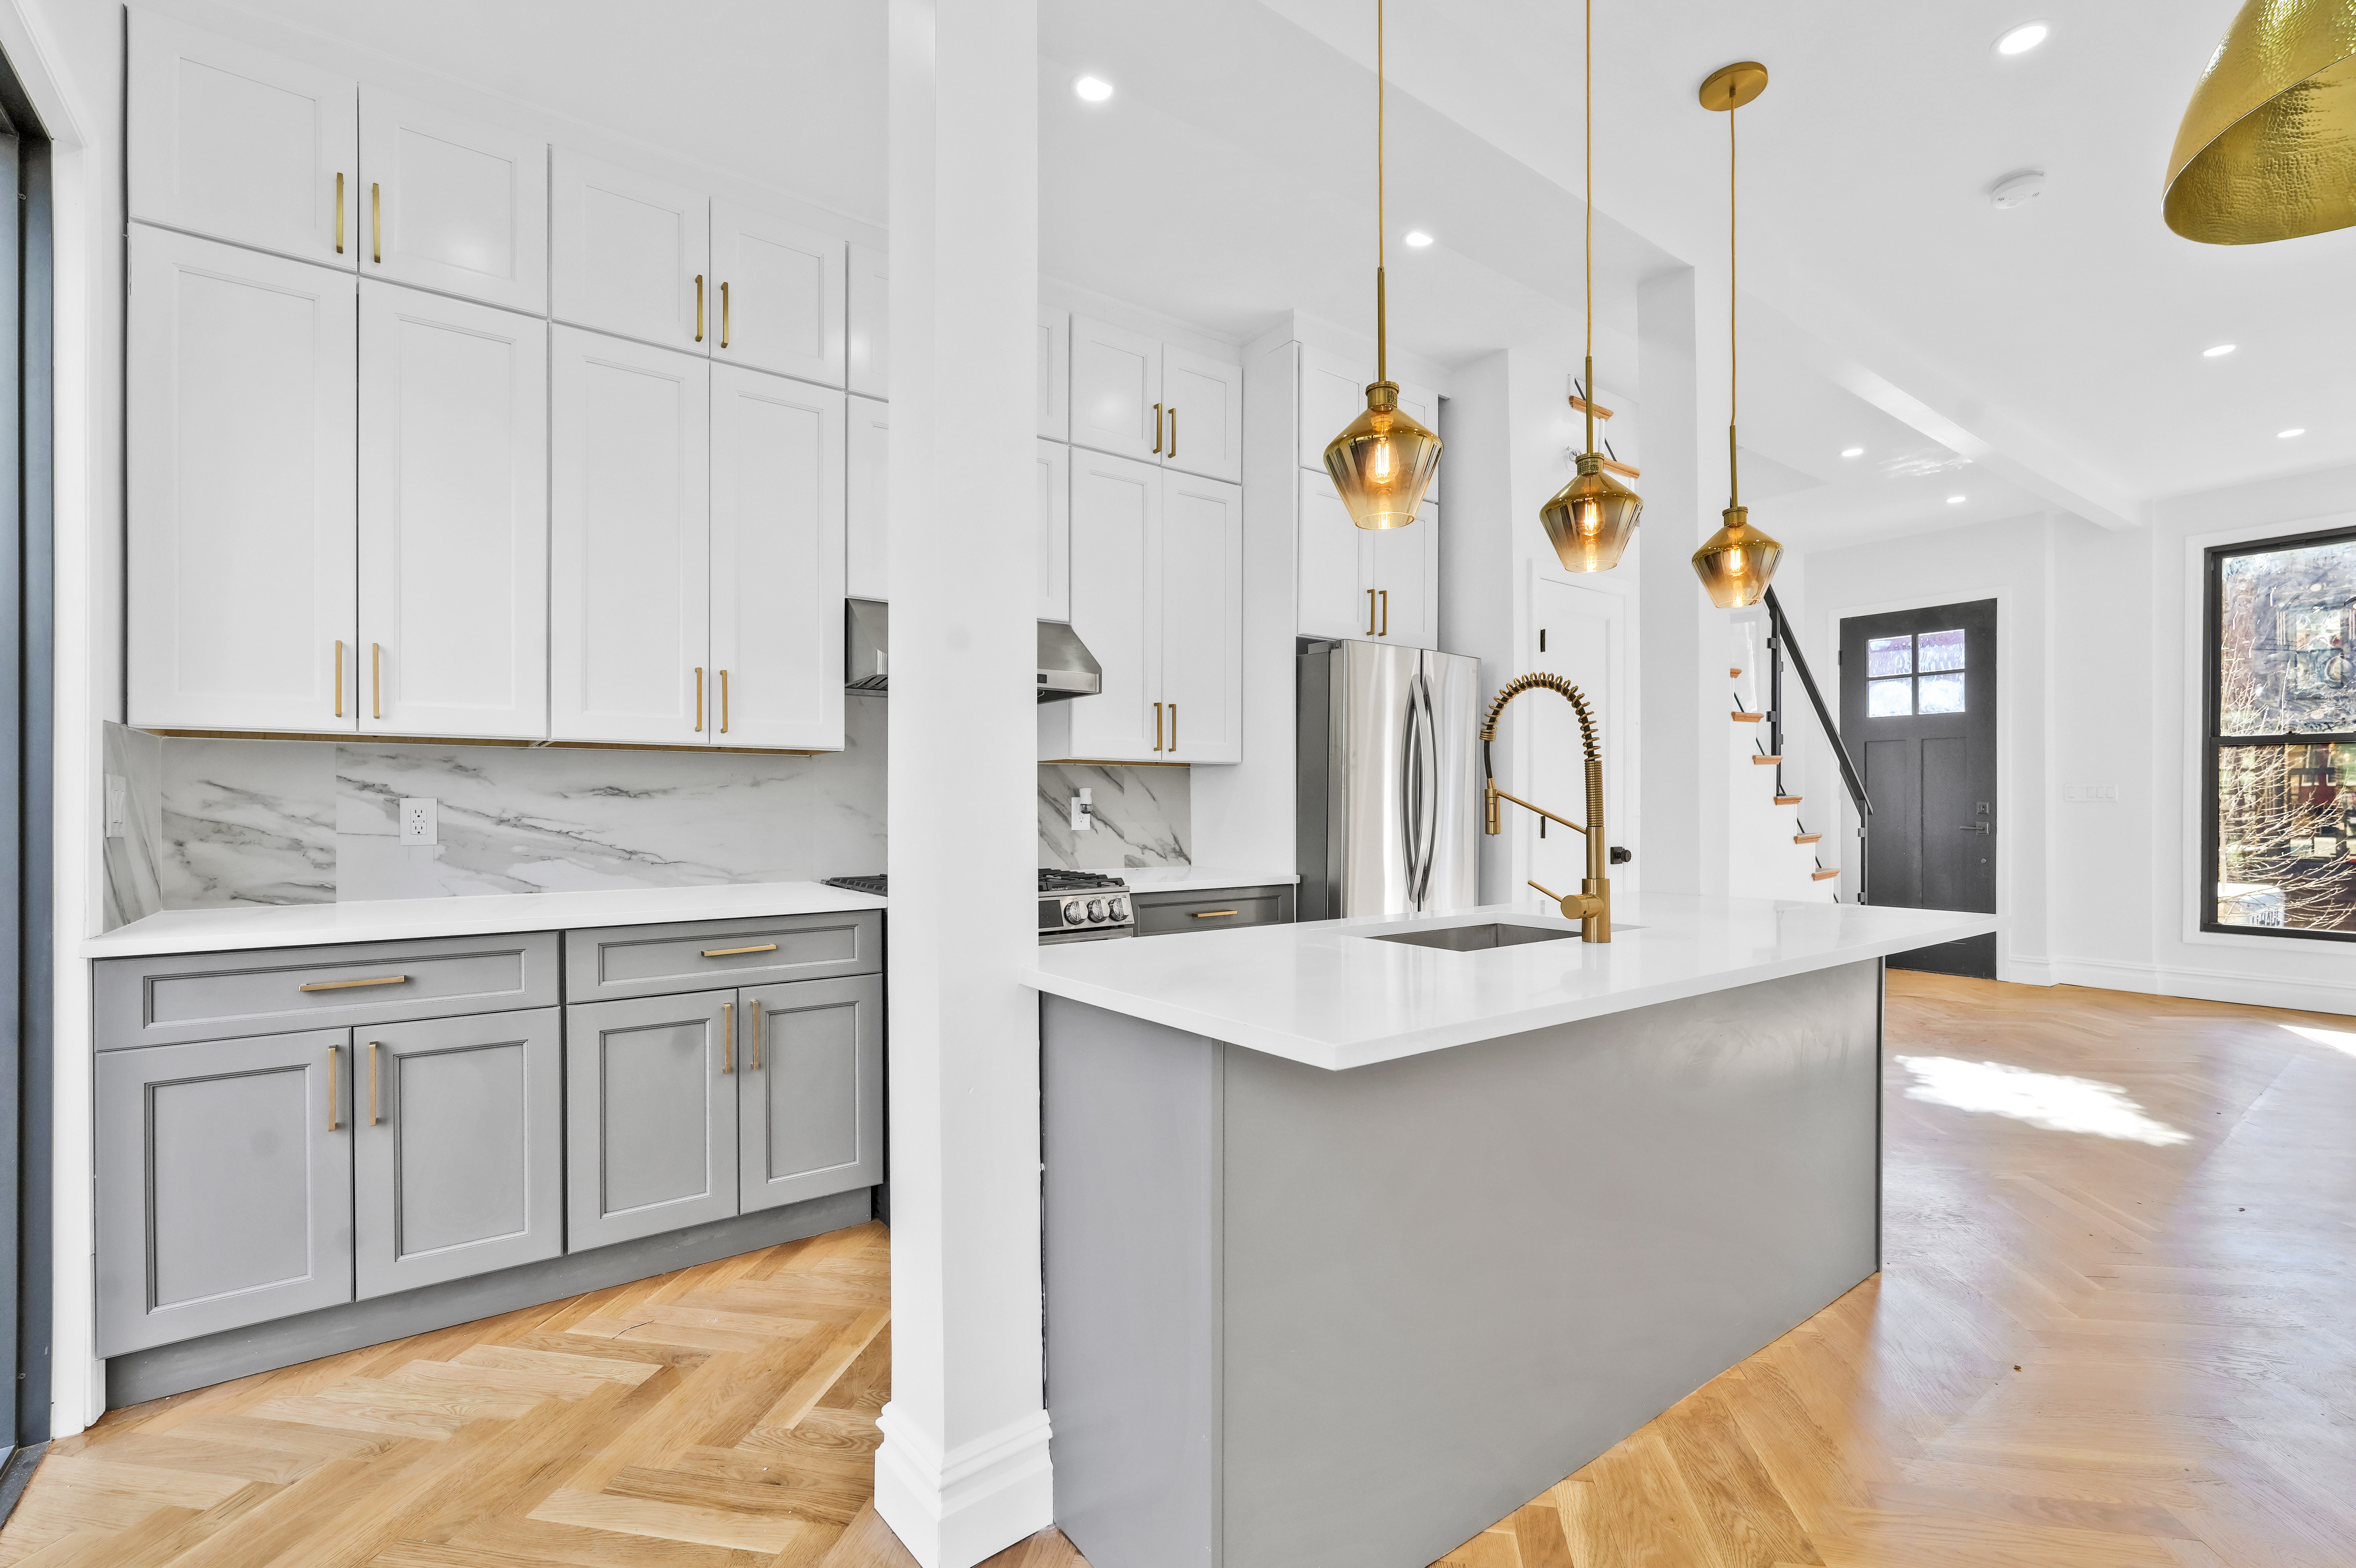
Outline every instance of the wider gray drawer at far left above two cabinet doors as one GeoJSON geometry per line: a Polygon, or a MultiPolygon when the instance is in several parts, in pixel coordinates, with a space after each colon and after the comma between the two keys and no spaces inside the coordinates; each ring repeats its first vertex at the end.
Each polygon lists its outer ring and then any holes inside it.
{"type": "Polygon", "coordinates": [[[556,932],[104,958],[97,1045],[554,1008],[556,932]]]}

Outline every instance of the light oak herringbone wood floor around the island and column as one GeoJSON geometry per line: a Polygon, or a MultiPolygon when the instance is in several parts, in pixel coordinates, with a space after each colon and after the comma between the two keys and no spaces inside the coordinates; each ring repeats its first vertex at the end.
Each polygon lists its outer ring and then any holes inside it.
{"type": "MultiPolygon", "coordinates": [[[[2344,1017],[1890,975],[1885,1274],[1444,1568],[2356,1563],[2344,1017]],[[1906,1099],[2120,1085],[2144,1144],[1906,1099]]],[[[909,1568],[867,1507],[876,1227],[170,1401],[57,1443],[0,1568],[909,1568]]],[[[1048,1530],[994,1568],[1086,1568],[1048,1530]]]]}

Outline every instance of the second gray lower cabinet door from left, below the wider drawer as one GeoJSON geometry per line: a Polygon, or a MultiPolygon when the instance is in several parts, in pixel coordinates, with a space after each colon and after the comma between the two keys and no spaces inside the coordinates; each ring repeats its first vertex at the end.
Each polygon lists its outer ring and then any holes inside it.
{"type": "Polygon", "coordinates": [[[561,1015],[353,1036],[358,1300],[563,1253],[561,1015]]]}

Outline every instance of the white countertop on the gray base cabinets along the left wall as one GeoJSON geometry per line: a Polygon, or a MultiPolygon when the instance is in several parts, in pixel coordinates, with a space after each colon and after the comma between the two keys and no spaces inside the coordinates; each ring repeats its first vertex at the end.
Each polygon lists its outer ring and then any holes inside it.
{"type": "Polygon", "coordinates": [[[82,942],[82,956],[221,954],[250,946],[478,937],[504,930],[580,930],[589,925],[655,925],[660,921],[740,921],[839,909],[884,909],[884,899],[822,883],[730,883],[723,888],[490,892],[448,899],[167,909],[118,925],[104,937],[90,937],[82,942]]]}

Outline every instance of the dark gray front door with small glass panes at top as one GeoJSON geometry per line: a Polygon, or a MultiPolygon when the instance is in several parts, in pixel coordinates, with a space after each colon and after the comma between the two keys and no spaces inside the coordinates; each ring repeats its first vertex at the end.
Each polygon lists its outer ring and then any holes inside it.
{"type": "MultiPolygon", "coordinates": [[[[1842,619],[1840,735],[1873,796],[1866,902],[1996,913],[1996,600],[1842,619]]],[[[1996,937],[1890,965],[1996,979],[1996,937]]]]}

